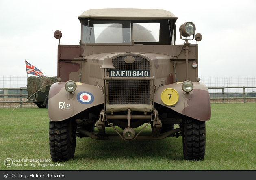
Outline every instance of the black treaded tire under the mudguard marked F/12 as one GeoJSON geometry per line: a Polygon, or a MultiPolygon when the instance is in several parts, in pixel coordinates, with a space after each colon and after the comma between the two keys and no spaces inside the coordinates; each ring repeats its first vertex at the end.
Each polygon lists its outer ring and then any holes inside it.
{"type": "Polygon", "coordinates": [[[76,119],[49,124],[49,145],[53,162],[67,161],[74,158],[76,150],[76,119]]]}

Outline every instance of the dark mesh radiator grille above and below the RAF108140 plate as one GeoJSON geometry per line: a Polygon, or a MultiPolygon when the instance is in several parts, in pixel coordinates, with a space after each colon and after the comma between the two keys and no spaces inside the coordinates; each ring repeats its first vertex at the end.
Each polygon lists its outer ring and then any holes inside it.
{"type": "MultiPolygon", "coordinates": [[[[116,70],[150,70],[150,62],[139,56],[133,56],[133,63],[126,63],[119,56],[112,60],[116,70]]],[[[150,81],[113,80],[108,85],[108,104],[150,104],[150,81]]]]}

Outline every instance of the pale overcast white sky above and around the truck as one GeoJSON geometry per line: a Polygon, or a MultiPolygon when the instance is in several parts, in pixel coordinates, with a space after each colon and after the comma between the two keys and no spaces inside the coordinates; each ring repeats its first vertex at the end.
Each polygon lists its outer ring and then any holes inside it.
{"type": "MultiPolygon", "coordinates": [[[[199,77],[256,77],[256,0],[0,0],[0,76],[27,76],[25,59],[45,76],[57,76],[54,32],[61,44],[78,45],[78,16],[89,9],[164,9],[202,34],[199,77]]],[[[176,44],[183,44],[179,32],[176,44]]],[[[196,41],[190,41],[195,44],[196,41]]],[[[32,76],[32,75],[29,75],[32,76]]]]}

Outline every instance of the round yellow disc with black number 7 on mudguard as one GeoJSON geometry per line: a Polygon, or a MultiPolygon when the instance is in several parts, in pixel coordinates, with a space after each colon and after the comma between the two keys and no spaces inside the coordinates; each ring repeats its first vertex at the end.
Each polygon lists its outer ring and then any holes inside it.
{"type": "Polygon", "coordinates": [[[179,100],[179,94],[175,89],[167,88],[161,94],[162,102],[167,106],[176,104],[179,100]]]}

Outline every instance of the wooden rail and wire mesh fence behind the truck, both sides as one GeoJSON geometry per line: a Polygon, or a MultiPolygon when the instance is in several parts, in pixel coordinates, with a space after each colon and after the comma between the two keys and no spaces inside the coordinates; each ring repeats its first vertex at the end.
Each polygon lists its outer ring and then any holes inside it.
{"type": "MultiPolygon", "coordinates": [[[[200,82],[208,87],[211,103],[256,102],[256,78],[202,77],[200,82]]],[[[0,108],[37,108],[26,102],[26,87],[26,76],[0,76],[0,108]],[[18,92],[8,93],[11,90],[18,92]]]]}

